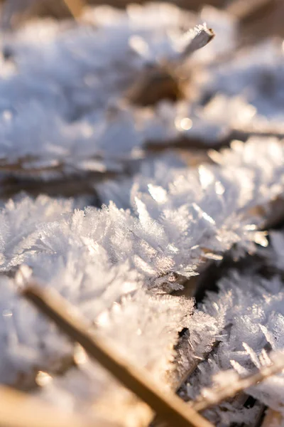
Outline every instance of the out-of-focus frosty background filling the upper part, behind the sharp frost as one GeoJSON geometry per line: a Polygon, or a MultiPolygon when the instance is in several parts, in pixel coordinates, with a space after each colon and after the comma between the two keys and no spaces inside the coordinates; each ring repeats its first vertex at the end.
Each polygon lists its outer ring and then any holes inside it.
{"type": "Polygon", "coordinates": [[[4,199],[93,195],[168,150],[196,164],[284,135],[283,0],[101,3],[1,0],[4,199]],[[203,22],[215,37],[190,48],[203,22]]]}

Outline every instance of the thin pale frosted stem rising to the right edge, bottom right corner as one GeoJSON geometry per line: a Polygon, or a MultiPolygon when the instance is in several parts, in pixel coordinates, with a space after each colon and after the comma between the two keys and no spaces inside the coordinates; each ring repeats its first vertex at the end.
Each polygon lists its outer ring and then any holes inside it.
{"type": "Polygon", "coordinates": [[[268,379],[270,376],[278,374],[284,369],[284,356],[281,355],[275,359],[273,364],[268,367],[262,367],[259,369],[256,374],[244,376],[239,378],[233,384],[230,382],[225,386],[215,386],[211,389],[206,388],[202,390],[202,394],[197,396],[195,401],[190,403],[190,406],[195,409],[195,411],[204,411],[211,406],[220,404],[222,401],[234,397],[240,391],[249,389],[251,386],[255,386],[261,381],[268,379]]]}

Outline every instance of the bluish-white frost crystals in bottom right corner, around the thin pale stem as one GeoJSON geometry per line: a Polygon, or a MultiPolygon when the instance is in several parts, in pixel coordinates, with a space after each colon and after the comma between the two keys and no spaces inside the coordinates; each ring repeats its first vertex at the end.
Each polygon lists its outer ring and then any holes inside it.
{"type": "MultiPolygon", "coordinates": [[[[215,336],[216,349],[206,362],[199,365],[187,384],[191,398],[197,396],[202,387],[212,385],[214,375],[219,375],[220,370],[235,369],[240,376],[246,376],[271,364],[271,351],[283,351],[284,348],[284,292],[283,281],[278,275],[267,280],[249,271],[240,275],[232,270],[228,277],[219,281],[218,288],[219,292],[209,292],[199,307],[214,317],[220,329],[215,336]]],[[[226,375],[229,374],[224,373],[223,381],[226,375]]],[[[250,387],[247,393],[282,412],[283,386],[283,374],[278,374],[250,387]]],[[[251,411],[253,416],[255,410],[244,409],[243,415],[247,417],[251,411]]],[[[234,417],[241,420],[238,418],[241,416],[239,408],[234,407],[234,403],[224,402],[207,412],[218,426],[234,420],[234,417]]]]}

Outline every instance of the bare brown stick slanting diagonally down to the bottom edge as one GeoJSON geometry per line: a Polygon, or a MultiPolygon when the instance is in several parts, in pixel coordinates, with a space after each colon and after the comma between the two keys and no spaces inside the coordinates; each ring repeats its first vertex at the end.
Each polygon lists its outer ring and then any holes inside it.
{"type": "Polygon", "coordinates": [[[129,361],[121,357],[121,354],[114,351],[105,338],[94,337],[88,332],[88,322],[57,292],[42,290],[36,285],[30,285],[23,290],[23,295],[53,320],[72,340],[79,342],[92,359],[97,360],[124,386],[151,406],[168,425],[213,427],[209,421],[189,408],[178,396],[163,394],[147,371],[133,367],[129,361]]]}

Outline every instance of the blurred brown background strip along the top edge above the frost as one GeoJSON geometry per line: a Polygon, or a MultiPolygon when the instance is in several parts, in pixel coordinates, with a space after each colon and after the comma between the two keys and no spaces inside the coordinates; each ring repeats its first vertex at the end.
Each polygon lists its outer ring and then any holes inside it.
{"type": "MultiPolygon", "coordinates": [[[[0,0],[6,4],[5,11],[13,23],[20,23],[24,19],[31,19],[34,16],[52,16],[56,19],[64,19],[72,16],[72,8],[77,11],[83,6],[109,4],[116,8],[124,9],[128,4],[146,4],[147,1],[137,0],[0,0]]],[[[156,1],[158,3],[158,1],[156,1]]],[[[168,0],[168,3],[192,10],[200,11],[203,6],[211,5],[219,9],[229,11],[241,19],[243,29],[246,33],[251,32],[251,36],[284,36],[282,19],[284,5],[282,0],[168,0]],[[255,33],[255,34],[253,34],[255,33]]],[[[11,22],[10,22],[11,23],[11,22]]]]}

